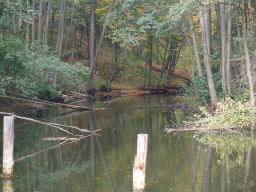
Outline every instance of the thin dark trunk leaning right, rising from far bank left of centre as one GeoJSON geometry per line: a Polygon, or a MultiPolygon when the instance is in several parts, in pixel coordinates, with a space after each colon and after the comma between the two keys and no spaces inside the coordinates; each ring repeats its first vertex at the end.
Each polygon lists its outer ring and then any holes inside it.
{"type": "MultiPolygon", "coordinates": [[[[93,2],[94,2],[94,0],[92,0],[92,4],[95,3],[95,2],[94,3],[93,2]]],[[[108,15],[106,16],[105,23],[104,23],[104,26],[102,28],[102,32],[101,32],[101,36],[100,36],[97,51],[96,51],[95,55],[91,55],[90,63],[92,63],[92,66],[90,65],[91,72],[89,74],[88,81],[87,81],[87,92],[89,94],[91,94],[93,92],[93,78],[94,78],[94,70],[95,70],[95,67],[96,67],[96,61],[97,61],[97,58],[98,58],[98,55],[99,55],[99,52],[100,52],[100,48],[101,48],[101,45],[102,45],[102,42],[103,42],[103,37],[104,37],[104,34],[105,34],[106,25],[108,24],[109,17],[111,15],[112,9],[114,8],[114,3],[115,3],[115,0],[112,0],[108,15]],[[92,60],[93,60],[93,62],[92,62],[92,60]]],[[[93,5],[93,7],[94,6],[95,5],[93,5]]],[[[92,26],[91,26],[91,28],[92,28],[92,26]]],[[[95,26],[94,26],[94,29],[95,29],[95,26]]],[[[94,33],[95,33],[95,31],[94,31],[94,33]]],[[[91,38],[92,38],[92,34],[91,34],[91,38]]],[[[91,39],[91,41],[92,41],[92,39],[91,39]]]]}

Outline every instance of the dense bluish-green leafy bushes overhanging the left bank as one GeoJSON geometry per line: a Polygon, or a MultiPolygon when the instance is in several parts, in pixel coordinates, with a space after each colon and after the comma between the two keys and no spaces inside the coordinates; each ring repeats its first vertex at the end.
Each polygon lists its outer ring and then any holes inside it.
{"type": "Polygon", "coordinates": [[[10,82],[9,89],[24,95],[56,100],[57,91],[52,83],[54,72],[59,72],[61,87],[82,89],[89,68],[76,62],[74,66],[60,61],[44,46],[37,47],[37,42],[27,50],[17,37],[6,35],[0,44],[1,94],[10,82]],[[82,82],[83,81],[83,82],[82,82]]]}

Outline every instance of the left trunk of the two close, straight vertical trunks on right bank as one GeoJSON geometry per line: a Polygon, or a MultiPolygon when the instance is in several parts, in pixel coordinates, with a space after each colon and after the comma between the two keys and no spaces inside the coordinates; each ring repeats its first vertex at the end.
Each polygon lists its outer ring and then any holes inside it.
{"type": "Polygon", "coordinates": [[[225,5],[220,4],[220,16],[221,16],[221,79],[222,79],[222,91],[226,92],[226,22],[225,22],[225,5]]]}

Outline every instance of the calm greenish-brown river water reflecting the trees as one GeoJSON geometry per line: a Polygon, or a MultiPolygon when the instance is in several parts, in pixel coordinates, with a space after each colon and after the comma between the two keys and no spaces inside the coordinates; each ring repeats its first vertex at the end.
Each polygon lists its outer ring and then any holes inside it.
{"type": "MultiPolygon", "coordinates": [[[[194,136],[191,131],[166,134],[165,127],[185,120],[181,109],[135,109],[177,103],[174,95],[112,98],[108,104],[102,101],[106,100],[76,104],[105,109],[74,112],[54,108],[29,114],[44,122],[102,130],[98,132],[101,136],[76,142],[42,140],[68,135],[45,125],[15,120],[13,191],[132,191],[140,133],[148,134],[146,192],[256,191],[253,141],[194,136]]],[[[0,123],[3,125],[2,119],[0,123]]],[[[3,127],[0,134],[3,154],[3,127]]],[[[0,178],[0,188],[4,183],[0,178]]]]}

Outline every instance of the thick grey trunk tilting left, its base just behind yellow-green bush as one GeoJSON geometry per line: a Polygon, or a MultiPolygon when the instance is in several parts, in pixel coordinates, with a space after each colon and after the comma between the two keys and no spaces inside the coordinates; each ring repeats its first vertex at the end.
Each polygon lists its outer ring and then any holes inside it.
{"type": "Polygon", "coordinates": [[[200,10],[199,14],[200,14],[200,26],[201,26],[201,34],[202,34],[204,62],[205,62],[205,69],[206,69],[206,75],[207,75],[207,80],[208,80],[211,104],[216,105],[218,102],[218,97],[217,97],[217,93],[216,93],[216,89],[215,89],[214,77],[212,76],[212,72],[211,72],[210,58],[209,58],[209,53],[208,53],[208,49],[207,49],[206,34],[205,34],[205,30],[204,30],[205,25],[204,25],[204,21],[203,21],[202,10],[200,10]]]}

